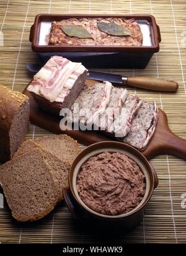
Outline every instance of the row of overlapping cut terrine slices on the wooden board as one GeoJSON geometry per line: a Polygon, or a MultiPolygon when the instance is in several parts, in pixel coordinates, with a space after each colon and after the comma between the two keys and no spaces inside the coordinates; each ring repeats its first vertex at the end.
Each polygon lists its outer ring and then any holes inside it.
{"type": "Polygon", "coordinates": [[[144,102],[109,82],[84,87],[71,111],[68,121],[79,123],[80,130],[102,131],[141,151],[156,129],[156,103],[144,102]]]}

